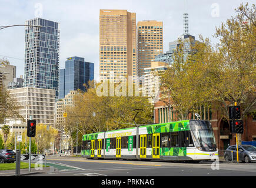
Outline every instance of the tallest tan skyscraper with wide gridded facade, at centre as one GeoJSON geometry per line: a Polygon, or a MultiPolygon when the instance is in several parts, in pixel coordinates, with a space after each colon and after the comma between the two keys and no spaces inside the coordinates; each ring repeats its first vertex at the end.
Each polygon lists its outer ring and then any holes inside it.
{"type": "Polygon", "coordinates": [[[99,11],[99,76],[116,80],[136,76],[136,14],[99,11]]]}

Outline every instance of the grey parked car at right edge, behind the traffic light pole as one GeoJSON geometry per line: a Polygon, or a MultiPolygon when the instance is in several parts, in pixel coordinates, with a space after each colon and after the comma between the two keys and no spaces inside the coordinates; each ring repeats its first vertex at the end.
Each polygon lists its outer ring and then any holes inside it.
{"type": "MultiPolygon", "coordinates": [[[[237,160],[237,146],[228,147],[224,153],[224,158],[228,160],[237,160]]],[[[256,161],[256,147],[251,145],[238,145],[238,160],[245,163],[256,161]]]]}

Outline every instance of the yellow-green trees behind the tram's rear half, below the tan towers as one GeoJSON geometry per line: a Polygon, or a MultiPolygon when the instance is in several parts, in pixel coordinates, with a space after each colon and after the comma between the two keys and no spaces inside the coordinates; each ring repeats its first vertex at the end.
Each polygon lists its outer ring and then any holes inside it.
{"type": "MultiPolygon", "coordinates": [[[[101,84],[98,83],[97,86],[101,84]]],[[[118,87],[118,83],[115,88],[118,87]]],[[[108,83],[108,93],[109,93],[108,83]]],[[[121,92],[122,89],[119,89],[121,92]]],[[[71,149],[75,146],[78,130],[78,143],[82,135],[93,132],[121,129],[135,126],[133,119],[135,109],[142,109],[136,117],[138,124],[152,122],[152,105],[148,98],[142,96],[99,96],[97,88],[91,87],[87,92],[74,96],[73,105],[65,109],[65,132],[71,135],[71,149]]],[[[71,150],[72,153],[72,150],[71,150]]]]}

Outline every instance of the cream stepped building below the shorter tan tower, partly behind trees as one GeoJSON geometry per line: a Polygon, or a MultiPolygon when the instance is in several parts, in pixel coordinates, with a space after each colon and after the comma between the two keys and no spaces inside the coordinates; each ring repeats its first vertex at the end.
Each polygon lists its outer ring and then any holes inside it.
{"type": "Polygon", "coordinates": [[[144,69],[145,83],[144,90],[147,91],[147,96],[150,97],[149,102],[157,102],[159,97],[160,80],[159,76],[156,76],[156,72],[161,72],[167,69],[165,62],[151,62],[150,68],[144,69]]]}

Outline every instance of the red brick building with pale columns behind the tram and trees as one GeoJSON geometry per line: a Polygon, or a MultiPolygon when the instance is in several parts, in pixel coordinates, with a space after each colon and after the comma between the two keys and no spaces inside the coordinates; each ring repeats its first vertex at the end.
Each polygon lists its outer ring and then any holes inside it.
{"type": "MultiPolygon", "coordinates": [[[[169,102],[169,99],[165,99],[169,102]]],[[[255,112],[256,105],[252,106],[250,112],[255,112]]],[[[220,112],[209,108],[202,107],[201,109],[202,120],[210,120],[212,129],[214,130],[216,144],[220,155],[223,155],[224,150],[227,149],[228,145],[235,145],[236,138],[235,134],[230,133],[230,126],[228,120],[223,118],[220,112]],[[211,112],[212,111],[212,112],[211,112]]],[[[189,119],[194,119],[193,115],[189,115],[189,119]]],[[[165,123],[177,121],[177,114],[174,113],[173,109],[169,109],[167,104],[162,101],[158,101],[154,104],[154,123],[165,123]]],[[[244,133],[242,134],[242,141],[256,140],[256,115],[248,115],[244,122],[244,133]]]]}

